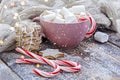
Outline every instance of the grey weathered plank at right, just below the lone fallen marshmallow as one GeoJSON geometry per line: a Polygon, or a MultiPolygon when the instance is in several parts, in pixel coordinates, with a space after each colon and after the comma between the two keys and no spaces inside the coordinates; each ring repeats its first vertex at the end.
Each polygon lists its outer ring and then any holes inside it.
{"type": "Polygon", "coordinates": [[[94,41],[86,41],[83,45],[91,51],[93,61],[101,64],[110,71],[120,75],[120,49],[110,43],[100,44],[94,41]]]}

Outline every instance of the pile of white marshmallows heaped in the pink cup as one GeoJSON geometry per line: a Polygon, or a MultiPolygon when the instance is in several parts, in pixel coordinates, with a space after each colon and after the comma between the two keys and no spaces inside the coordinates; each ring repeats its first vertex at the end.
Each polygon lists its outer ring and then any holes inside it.
{"type": "Polygon", "coordinates": [[[84,5],[72,6],[71,8],[56,9],[44,11],[41,18],[47,22],[53,23],[77,23],[79,18],[87,18],[84,5]]]}

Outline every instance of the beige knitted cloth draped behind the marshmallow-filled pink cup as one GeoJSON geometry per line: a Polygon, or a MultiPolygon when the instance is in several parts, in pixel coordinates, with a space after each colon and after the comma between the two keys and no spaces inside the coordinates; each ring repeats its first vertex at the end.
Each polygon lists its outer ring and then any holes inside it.
{"type": "MultiPolygon", "coordinates": [[[[96,6],[95,0],[48,0],[48,2],[45,2],[45,0],[24,0],[25,3],[23,6],[21,5],[21,0],[12,1],[15,3],[15,6],[8,7],[3,10],[3,14],[1,15],[2,19],[5,21],[3,23],[7,23],[12,26],[16,21],[18,21],[13,19],[14,13],[16,12],[19,13],[20,18],[23,20],[33,16],[38,16],[46,9],[71,7],[74,5],[85,5],[86,10],[93,15],[98,24],[103,24],[107,28],[111,25],[110,20],[103,13],[101,13],[99,9],[100,7],[96,6]]],[[[10,3],[10,0],[3,0],[1,5],[10,3]]]]}

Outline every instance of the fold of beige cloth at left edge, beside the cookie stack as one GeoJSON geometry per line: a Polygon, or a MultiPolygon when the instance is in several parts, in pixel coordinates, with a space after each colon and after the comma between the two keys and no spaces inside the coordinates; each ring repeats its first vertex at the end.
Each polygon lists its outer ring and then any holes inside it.
{"type": "Polygon", "coordinates": [[[15,48],[15,32],[8,24],[0,24],[0,52],[15,48]]]}

